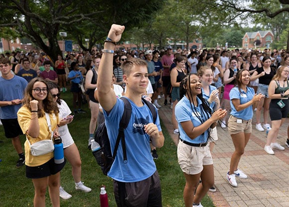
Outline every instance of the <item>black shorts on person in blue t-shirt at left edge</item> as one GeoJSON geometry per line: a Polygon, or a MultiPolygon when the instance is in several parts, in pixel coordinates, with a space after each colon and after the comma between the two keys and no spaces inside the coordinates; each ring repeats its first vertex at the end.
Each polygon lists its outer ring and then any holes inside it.
{"type": "Polygon", "coordinates": [[[15,138],[19,135],[23,135],[17,119],[1,119],[1,122],[6,138],[15,138]]]}

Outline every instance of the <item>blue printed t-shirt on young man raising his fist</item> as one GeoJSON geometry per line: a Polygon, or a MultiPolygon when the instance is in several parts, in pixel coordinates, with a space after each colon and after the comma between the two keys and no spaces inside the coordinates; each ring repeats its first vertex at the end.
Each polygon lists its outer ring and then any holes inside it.
{"type": "MultiPolygon", "coordinates": [[[[120,144],[108,176],[120,182],[131,183],[150,177],[156,171],[156,166],[150,153],[149,136],[144,132],[144,126],[153,123],[152,114],[146,104],[138,107],[130,99],[128,100],[132,105],[131,119],[125,130],[128,162],[124,163],[123,148],[120,144]]],[[[104,110],[112,152],[119,134],[124,106],[123,100],[117,98],[115,106],[109,113],[104,110]]],[[[158,115],[154,124],[161,131],[158,115]]]]}

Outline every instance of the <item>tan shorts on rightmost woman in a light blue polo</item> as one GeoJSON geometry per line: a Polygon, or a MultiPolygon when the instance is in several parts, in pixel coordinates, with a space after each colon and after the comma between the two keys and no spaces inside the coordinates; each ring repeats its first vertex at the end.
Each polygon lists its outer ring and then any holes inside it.
{"type": "Polygon", "coordinates": [[[242,120],[242,123],[237,123],[237,117],[230,116],[228,120],[228,131],[230,135],[235,135],[240,132],[245,134],[252,133],[252,120],[242,120]]]}

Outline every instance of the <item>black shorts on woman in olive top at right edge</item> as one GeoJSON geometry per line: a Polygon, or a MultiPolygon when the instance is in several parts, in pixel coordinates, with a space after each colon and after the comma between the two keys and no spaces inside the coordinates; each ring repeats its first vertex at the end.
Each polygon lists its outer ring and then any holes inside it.
{"type": "Polygon", "coordinates": [[[282,100],[283,103],[285,103],[285,106],[283,108],[280,108],[280,106],[277,105],[277,102],[280,100],[281,99],[271,99],[269,107],[269,114],[271,121],[287,118],[287,115],[289,113],[289,100],[288,99],[282,100]]]}

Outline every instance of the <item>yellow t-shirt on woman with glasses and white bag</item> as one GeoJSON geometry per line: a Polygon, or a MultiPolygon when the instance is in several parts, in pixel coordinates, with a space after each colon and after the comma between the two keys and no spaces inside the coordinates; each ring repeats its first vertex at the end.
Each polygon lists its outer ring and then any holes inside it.
{"type": "MultiPolygon", "coordinates": [[[[31,121],[31,112],[29,111],[29,109],[25,106],[22,106],[17,112],[17,117],[18,123],[21,127],[23,134],[26,135],[26,138],[28,138],[31,144],[36,141],[51,138],[51,133],[49,132],[45,115],[41,118],[38,118],[38,123],[40,126],[38,138],[32,138],[26,133],[31,121]]],[[[51,130],[53,132],[58,123],[58,116],[56,116],[55,114],[49,114],[49,117],[51,122],[51,130]]],[[[53,158],[53,152],[40,156],[33,156],[30,152],[30,146],[27,140],[24,143],[24,148],[25,148],[25,165],[27,166],[36,167],[48,162],[51,158],[53,158]]]]}

